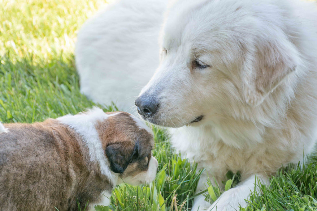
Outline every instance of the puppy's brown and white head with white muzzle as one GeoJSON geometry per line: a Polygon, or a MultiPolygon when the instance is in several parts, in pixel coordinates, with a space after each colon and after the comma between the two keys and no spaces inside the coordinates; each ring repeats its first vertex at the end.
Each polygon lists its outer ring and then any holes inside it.
{"type": "Polygon", "coordinates": [[[132,185],[152,182],[158,167],[151,153],[152,130],[126,112],[107,114],[110,114],[108,118],[100,121],[96,128],[111,171],[132,185]]]}

